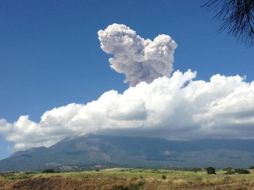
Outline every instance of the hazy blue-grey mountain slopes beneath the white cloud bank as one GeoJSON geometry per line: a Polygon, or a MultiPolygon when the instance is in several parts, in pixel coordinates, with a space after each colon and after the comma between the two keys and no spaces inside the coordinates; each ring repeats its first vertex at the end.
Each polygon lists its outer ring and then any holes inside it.
{"type": "Polygon", "coordinates": [[[49,148],[16,152],[0,161],[0,171],[249,167],[254,165],[253,145],[254,140],[169,141],[162,138],[86,135],[64,139],[49,148]]]}

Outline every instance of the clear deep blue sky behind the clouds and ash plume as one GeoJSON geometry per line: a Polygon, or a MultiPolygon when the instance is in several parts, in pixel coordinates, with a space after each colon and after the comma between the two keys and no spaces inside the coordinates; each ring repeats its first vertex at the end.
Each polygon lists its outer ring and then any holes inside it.
{"type": "MultiPolygon", "coordinates": [[[[253,48],[218,32],[219,21],[202,0],[4,0],[0,2],[0,118],[41,114],[71,102],[85,103],[104,91],[123,91],[97,31],[123,23],[144,38],[169,34],[177,42],[174,70],[246,75],[254,79],[253,48]]],[[[0,158],[8,155],[0,136],[0,158]]]]}

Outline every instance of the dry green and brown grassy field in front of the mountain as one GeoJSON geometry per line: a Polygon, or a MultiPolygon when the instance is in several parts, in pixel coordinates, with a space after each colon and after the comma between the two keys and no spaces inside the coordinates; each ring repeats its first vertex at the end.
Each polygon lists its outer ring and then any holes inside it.
{"type": "Polygon", "coordinates": [[[0,176],[0,190],[212,190],[254,189],[254,172],[227,175],[218,171],[104,169],[68,173],[9,173],[0,176]]]}

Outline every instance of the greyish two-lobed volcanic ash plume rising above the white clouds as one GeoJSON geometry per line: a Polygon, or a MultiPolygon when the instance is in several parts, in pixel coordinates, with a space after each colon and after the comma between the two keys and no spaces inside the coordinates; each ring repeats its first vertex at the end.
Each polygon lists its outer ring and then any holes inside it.
{"type": "Polygon", "coordinates": [[[109,25],[99,30],[98,36],[102,50],[112,55],[111,68],[123,73],[130,86],[171,75],[177,45],[170,36],[162,34],[154,40],[143,39],[123,24],[109,25]]]}

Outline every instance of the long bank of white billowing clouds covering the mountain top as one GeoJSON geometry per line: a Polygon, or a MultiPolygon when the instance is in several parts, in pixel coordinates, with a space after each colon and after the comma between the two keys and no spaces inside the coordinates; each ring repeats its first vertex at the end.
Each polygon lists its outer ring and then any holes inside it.
{"type": "Polygon", "coordinates": [[[28,116],[13,123],[0,119],[0,134],[16,150],[102,131],[185,140],[253,138],[254,82],[247,83],[240,76],[214,75],[210,81],[195,80],[195,76],[190,70],[175,71],[171,77],[140,82],[122,94],[110,90],[87,104],[46,111],[38,123],[28,116]]]}

